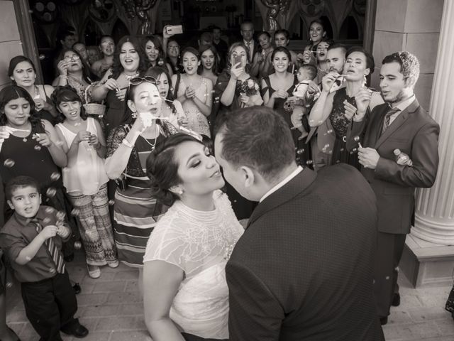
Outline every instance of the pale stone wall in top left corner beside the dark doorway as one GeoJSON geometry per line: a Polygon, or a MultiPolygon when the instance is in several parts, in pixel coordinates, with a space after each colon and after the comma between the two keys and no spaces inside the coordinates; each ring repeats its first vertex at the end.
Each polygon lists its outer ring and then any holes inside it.
{"type": "Polygon", "coordinates": [[[0,88],[10,84],[8,75],[9,60],[21,55],[22,43],[19,36],[13,1],[0,0],[0,88]]]}

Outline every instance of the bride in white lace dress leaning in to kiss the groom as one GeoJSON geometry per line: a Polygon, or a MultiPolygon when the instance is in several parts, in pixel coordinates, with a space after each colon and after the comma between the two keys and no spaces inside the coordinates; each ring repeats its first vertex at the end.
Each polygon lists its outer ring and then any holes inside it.
{"type": "Polygon", "coordinates": [[[201,141],[179,133],[148,157],[147,174],[154,196],[171,205],[143,259],[150,335],[153,341],[182,341],[182,333],[228,339],[225,266],[243,227],[219,190],[224,180],[218,163],[201,141]]]}

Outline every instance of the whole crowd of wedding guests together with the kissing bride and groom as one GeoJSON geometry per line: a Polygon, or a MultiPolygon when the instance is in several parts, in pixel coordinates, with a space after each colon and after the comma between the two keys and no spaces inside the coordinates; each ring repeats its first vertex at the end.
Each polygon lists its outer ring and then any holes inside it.
{"type": "Polygon", "coordinates": [[[250,21],[230,45],[163,31],[102,36],[98,60],[71,40],[52,85],[10,60],[0,247],[41,340],[88,334],[65,270],[81,242],[92,278],[138,268],[153,340],[383,340],[438,168],[417,58],[384,58],[375,90],[372,55],[319,20],[301,52],[250,21]]]}

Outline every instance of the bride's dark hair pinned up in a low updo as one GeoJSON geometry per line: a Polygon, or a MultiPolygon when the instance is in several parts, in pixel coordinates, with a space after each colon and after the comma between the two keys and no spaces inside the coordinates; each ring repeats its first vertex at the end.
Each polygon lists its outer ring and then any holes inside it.
{"type": "Polygon", "coordinates": [[[178,175],[178,161],[175,160],[175,149],[184,142],[197,142],[198,139],[184,133],[177,133],[167,137],[147,158],[147,175],[152,180],[151,190],[153,197],[164,205],[173,205],[178,195],[172,193],[170,188],[181,183],[178,175]]]}

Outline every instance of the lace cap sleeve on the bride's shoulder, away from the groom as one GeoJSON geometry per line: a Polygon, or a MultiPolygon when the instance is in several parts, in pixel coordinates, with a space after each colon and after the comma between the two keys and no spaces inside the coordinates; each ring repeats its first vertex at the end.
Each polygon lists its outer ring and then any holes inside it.
{"type": "Polygon", "coordinates": [[[166,215],[157,222],[148,239],[143,262],[166,261],[186,273],[184,254],[188,254],[189,243],[184,240],[184,234],[175,223],[174,217],[166,215]]]}

